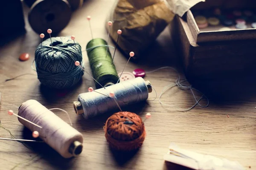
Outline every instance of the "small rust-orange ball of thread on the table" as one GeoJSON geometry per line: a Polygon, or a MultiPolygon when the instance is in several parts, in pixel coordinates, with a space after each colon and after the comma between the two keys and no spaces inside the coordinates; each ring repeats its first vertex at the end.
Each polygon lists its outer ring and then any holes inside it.
{"type": "Polygon", "coordinates": [[[146,136],[141,117],[131,112],[118,112],[110,116],[104,131],[109,146],[120,151],[138,149],[146,136]]]}

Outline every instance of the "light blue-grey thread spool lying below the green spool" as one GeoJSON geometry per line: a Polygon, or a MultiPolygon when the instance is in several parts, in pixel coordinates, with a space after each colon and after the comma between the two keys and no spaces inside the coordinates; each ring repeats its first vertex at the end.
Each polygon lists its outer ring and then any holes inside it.
{"type": "Polygon", "coordinates": [[[101,88],[95,91],[101,94],[94,91],[79,94],[78,101],[73,102],[77,115],[82,114],[85,119],[88,119],[117,109],[116,102],[122,107],[144,101],[148,99],[148,93],[152,92],[152,88],[149,81],[144,81],[143,78],[137,77],[108,86],[106,89],[101,88]],[[110,96],[108,97],[110,92],[114,92],[116,102],[110,96]]]}

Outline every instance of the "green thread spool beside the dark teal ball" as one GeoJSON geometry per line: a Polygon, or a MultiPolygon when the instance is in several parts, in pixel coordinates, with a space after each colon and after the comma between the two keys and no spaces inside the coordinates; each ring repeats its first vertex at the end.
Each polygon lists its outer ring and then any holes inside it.
{"type": "MultiPolygon", "coordinates": [[[[115,84],[119,77],[115,65],[112,64],[111,53],[109,49],[106,49],[108,48],[107,42],[101,38],[96,38],[88,42],[86,49],[89,48],[87,56],[94,79],[104,87],[115,84]]],[[[102,87],[96,83],[96,88],[102,87]]]]}

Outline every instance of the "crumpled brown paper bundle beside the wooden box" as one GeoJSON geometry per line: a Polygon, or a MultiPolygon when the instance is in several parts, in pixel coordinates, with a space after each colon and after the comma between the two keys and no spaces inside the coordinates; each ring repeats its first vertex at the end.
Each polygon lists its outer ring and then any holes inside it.
{"type": "Polygon", "coordinates": [[[140,57],[148,46],[173,20],[175,14],[182,16],[196,3],[204,0],[116,0],[106,20],[113,25],[110,36],[116,42],[117,30],[122,30],[118,46],[129,55],[134,51],[140,57]]]}

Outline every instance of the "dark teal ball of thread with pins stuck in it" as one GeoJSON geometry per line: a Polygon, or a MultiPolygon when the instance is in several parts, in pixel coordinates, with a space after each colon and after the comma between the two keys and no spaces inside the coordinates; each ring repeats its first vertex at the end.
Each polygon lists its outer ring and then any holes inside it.
{"type": "Polygon", "coordinates": [[[79,61],[84,67],[82,60],[79,43],[74,43],[69,37],[53,37],[51,45],[51,40],[47,39],[35,51],[38,79],[49,88],[71,88],[84,74],[81,67],[75,65],[79,61]]]}

